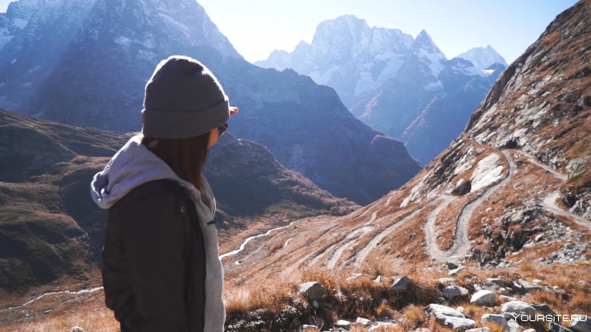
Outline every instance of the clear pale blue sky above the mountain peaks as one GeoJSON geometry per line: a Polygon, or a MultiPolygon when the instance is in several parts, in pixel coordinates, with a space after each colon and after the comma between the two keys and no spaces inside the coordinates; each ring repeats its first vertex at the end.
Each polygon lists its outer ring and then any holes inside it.
{"type": "MultiPolygon", "coordinates": [[[[0,0],[4,12],[10,0],[0,0]]],[[[249,61],[275,48],[311,42],[324,19],[353,14],[370,27],[425,29],[448,58],[490,44],[508,63],[575,0],[199,0],[220,31],[249,61]]]]}

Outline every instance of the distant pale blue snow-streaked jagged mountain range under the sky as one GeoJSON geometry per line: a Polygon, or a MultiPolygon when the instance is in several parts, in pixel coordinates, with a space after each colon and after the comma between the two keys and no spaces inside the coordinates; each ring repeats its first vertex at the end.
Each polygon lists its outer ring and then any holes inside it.
{"type": "Polygon", "coordinates": [[[427,163],[462,132],[506,67],[490,46],[463,57],[469,61],[447,60],[424,30],[413,38],[344,15],[320,23],[311,44],[302,41],[292,53],[276,50],[255,64],[294,69],[333,87],[353,115],[402,139],[427,163]]]}

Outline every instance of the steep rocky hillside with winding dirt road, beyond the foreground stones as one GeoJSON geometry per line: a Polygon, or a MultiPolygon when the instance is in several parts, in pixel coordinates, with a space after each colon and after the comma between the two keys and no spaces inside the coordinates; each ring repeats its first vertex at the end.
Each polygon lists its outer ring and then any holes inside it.
{"type": "Polygon", "coordinates": [[[465,131],[407,184],[347,216],[281,230],[258,245],[293,237],[290,249],[244,268],[228,261],[230,275],[366,271],[382,262],[588,262],[590,17],[588,0],[558,15],[499,77],[465,131]],[[269,262],[274,268],[262,269],[269,262]]]}

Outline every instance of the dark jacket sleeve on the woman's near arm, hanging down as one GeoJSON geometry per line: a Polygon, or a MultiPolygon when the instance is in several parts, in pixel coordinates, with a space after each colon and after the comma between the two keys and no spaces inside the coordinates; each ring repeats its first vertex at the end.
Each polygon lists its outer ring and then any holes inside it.
{"type": "MultiPolygon", "coordinates": [[[[154,189],[161,189],[154,188],[154,189]]],[[[137,317],[133,331],[186,331],[183,219],[174,191],[142,191],[121,209],[122,242],[137,317]]]]}

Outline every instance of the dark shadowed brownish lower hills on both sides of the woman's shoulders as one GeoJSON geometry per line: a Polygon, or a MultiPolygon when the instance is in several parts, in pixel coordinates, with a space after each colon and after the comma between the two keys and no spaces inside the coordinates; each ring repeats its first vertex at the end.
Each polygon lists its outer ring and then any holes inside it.
{"type": "MultiPolygon", "coordinates": [[[[90,199],[89,184],[129,135],[0,110],[0,293],[97,276],[106,213],[90,199]]],[[[222,249],[260,227],[353,207],[229,133],[204,173],[216,194],[222,249]]]]}

